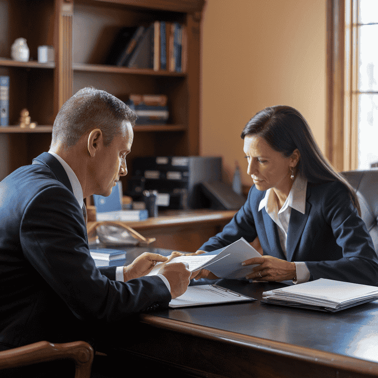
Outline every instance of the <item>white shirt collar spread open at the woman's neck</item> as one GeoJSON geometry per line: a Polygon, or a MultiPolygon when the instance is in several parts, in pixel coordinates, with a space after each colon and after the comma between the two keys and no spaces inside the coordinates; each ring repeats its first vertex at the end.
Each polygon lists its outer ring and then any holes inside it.
{"type": "MultiPolygon", "coordinates": [[[[288,206],[292,209],[299,211],[302,214],[306,212],[306,191],[307,180],[297,175],[296,179],[291,186],[289,195],[286,198],[284,206],[280,209],[280,212],[284,211],[288,206]]],[[[273,188],[268,189],[265,192],[264,198],[258,205],[258,211],[265,207],[266,212],[269,214],[273,211],[273,207],[276,205],[275,193],[273,188]]]]}

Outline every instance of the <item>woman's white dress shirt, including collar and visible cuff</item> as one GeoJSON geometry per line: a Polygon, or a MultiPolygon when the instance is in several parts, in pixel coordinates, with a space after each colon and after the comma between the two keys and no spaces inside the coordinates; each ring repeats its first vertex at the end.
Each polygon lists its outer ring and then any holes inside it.
{"type": "MultiPolygon", "coordinates": [[[[278,235],[280,244],[284,255],[286,256],[286,241],[287,230],[289,227],[291,209],[295,209],[302,214],[306,212],[306,190],[307,180],[303,179],[300,175],[297,175],[290,189],[289,195],[284,202],[283,207],[278,209],[278,198],[273,188],[268,189],[264,198],[260,201],[258,211],[265,208],[269,217],[277,224],[278,235]]],[[[296,269],[296,281],[294,284],[301,284],[307,282],[310,279],[310,271],[306,264],[301,262],[295,262],[296,269]]]]}

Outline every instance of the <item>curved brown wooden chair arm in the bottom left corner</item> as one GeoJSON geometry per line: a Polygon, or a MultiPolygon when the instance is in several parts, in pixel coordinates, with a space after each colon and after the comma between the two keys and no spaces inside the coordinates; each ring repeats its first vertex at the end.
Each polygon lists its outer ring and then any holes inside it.
{"type": "MultiPolygon", "coordinates": [[[[90,378],[94,358],[93,348],[84,341],[51,344],[40,341],[0,352],[0,370],[32,365],[58,359],[75,361],[75,378],[90,378]]],[[[1,372],[0,372],[1,376],[1,372]]]]}

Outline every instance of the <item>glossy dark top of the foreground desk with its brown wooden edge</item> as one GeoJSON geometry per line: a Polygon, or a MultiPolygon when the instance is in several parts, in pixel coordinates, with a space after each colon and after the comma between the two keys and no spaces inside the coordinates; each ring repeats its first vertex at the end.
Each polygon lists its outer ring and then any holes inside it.
{"type": "Polygon", "coordinates": [[[170,309],[141,315],[141,320],[175,333],[239,346],[252,355],[263,350],[296,361],[358,372],[351,377],[378,376],[378,301],[328,314],[259,302],[263,291],[283,284],[233,280],[218,280],[217,284],[257,301],[170,309]]]}

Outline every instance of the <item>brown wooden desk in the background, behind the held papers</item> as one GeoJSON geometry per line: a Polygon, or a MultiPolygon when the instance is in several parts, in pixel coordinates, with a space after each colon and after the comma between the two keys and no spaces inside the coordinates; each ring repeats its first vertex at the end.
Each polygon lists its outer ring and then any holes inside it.
{"type": "MultiPolygon", "coordinates": [[[[157,218],[125,224],[145,238],[156,238],[153,247],[195,252],[210,237],[220,232],[235,213],[235,210],[171,210],[157,218]]],[[[94,221],[88,222],[90,239],[94,237],[94,226],[94,221]]]]}

